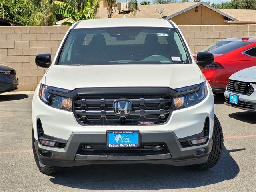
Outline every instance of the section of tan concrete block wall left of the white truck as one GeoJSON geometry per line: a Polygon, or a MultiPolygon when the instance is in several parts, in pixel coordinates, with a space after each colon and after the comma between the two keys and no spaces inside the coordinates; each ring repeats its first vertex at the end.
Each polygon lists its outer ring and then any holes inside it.
{"type": "Polygon", "coordinates": [[[0,63],[16,69],[18,91],[35,90],[46,72],[35,64],[40,53],[52,54],[52,60],[67,26],[0,26],[0,63]]]}

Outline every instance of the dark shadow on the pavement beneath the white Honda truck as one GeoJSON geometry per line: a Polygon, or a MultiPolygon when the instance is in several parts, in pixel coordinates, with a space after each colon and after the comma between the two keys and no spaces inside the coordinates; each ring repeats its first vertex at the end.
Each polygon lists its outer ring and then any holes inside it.
{"type": "Polygon", "coordinates": [[[158,164],[105,164],[66,168],[53,175],[54,184],[87,190],[160,190],[196,188],[225,180],[239,173],[238,164],[226,150],[218,164],[205,171],[192,171],[182,167],[158,164]]]}

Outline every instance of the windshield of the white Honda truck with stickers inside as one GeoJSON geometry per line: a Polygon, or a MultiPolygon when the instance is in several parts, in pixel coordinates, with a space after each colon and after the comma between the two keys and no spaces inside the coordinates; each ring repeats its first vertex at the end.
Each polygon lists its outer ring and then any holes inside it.
{"type": "Polygon", "coordinates": [[[71,30],[60,65],[185,64],[187,52],[174,28],[115,27],[71,30]]]}

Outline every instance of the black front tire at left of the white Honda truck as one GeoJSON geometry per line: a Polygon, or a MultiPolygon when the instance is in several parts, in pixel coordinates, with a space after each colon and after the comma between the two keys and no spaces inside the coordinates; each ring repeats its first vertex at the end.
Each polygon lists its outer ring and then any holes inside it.
{"type": "Polygon", "coordinates": [[[44,165],[40,162],[38,158],[38,154],[36,153],[36,148],[35,148],[34,129],[32,129],[32,148],[33,148],[34,159],[40,172],[42,172],[43,174],[54,174],[54,173],[60,173],[62,172],[62,170],[64,170],[64,167],[44,165]]]}

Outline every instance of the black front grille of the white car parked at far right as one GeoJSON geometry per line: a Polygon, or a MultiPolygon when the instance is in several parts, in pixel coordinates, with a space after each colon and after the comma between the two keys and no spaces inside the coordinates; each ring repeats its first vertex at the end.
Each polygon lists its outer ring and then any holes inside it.
{"type": "Polygon", "coordinates": [[[229,80],[227,90],[230,92],[239,93],[243,95],[251,95],[252,92],[254,91],[254,88],[248,82],[229,80]]]}

